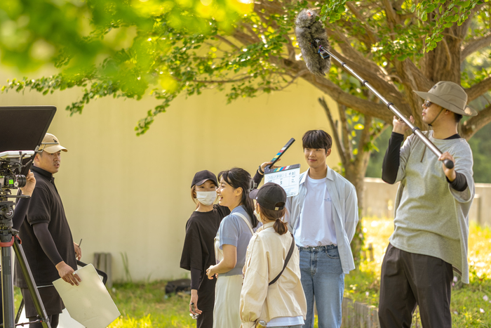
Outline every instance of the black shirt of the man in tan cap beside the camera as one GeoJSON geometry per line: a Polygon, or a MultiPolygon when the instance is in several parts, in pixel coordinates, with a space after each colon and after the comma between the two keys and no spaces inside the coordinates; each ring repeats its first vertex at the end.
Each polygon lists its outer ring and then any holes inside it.
{"type": "MultiPolygon", "coordinates": [[[[38,287],[53,284],[60,278],[55,264],[44,253],[39,240],[34,235],[32,225],[48,223],[48,230],[53,237],[56,249],[65,263],[76,270],[76,258],[72,231],[68,225],[62,200],[55,187],[52,174],[39,167],[32,166],[36,178],[36,188],[32,192],[25,221],[20,226],[19,237],[25,251],[27,263],[31,268],[34,281],[38,287]]],[[[18,261],[15,261],[15,285],[27,288],[18,261]]]]}

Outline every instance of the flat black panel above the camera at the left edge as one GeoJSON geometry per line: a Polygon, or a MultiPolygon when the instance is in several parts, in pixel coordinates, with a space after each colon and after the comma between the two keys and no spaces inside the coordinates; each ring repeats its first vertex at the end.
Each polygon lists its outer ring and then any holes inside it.
{"type": "Polygon", "coordinates": [[[35,150],[55,112],[55,106],[0,107],[0,152],[35,150]]]}

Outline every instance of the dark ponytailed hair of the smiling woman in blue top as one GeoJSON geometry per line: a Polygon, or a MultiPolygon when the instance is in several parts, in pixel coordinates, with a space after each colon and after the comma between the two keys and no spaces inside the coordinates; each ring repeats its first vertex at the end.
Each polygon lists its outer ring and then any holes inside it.
{"type": "Polygon", "coordinates": [[[245,211],[249,215],[250,220],[253,223],[253,228],[256,228],[259,221],[257,221],[257,218],[254,215],[253,199],[249,198],[250,186],[253,181],[249,172],[245,171],[244,169],[234,167],[233,169],[218,173],[218,181],[220,181],[222,178],[233,188],[242,188],[241,205],[244,206],[245,211]]]}

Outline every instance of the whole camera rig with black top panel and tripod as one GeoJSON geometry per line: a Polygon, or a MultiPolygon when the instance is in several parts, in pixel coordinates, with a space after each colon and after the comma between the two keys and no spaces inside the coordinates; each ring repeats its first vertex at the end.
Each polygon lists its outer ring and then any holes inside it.
{"type": "MultiPolygon", "coordinates": [[[[0,327],[14,328],[15,308],[13,301],[12,248],[25,277],[27,289],[38,313],[37,322],[43,328],[51,328],[48,315],[39,296],[34,277],[20,244],[18,230],[13,228],[14,220],[24,220],[15,216],[17,200],[25,195],[12,195],[12,189],[26,185],[26,175],[39,145],[48,131],[55,115],[54,106],[0,107],[0,122],[17,122],[0,127],[0,260],[1,260],[1,298],[3,324],[0,327]],[[19,128],[22,126],[22,129],[19,128]],[[15,199],[15,202],[13,201],[15,199]]],[[[22,213],[22,212],[20,212],[22,213]]],[[[24,325],[24,324],[22,324],[24,325]]]]}

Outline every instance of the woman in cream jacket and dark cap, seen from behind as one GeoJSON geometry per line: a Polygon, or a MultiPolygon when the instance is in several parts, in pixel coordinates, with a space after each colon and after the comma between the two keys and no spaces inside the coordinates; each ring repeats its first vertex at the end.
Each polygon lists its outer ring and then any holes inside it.
{"type": "Polygon", "coordinates": [[[299,251],[282,221],[285,190],[266,183],[250,192],[250,197],[256,199],[262,227],[250,240],[243,268],[242,328],[255,327],[259,320],[267,327],[300,328],[307,315],[307,301],[300,280],[299,251]]]}

